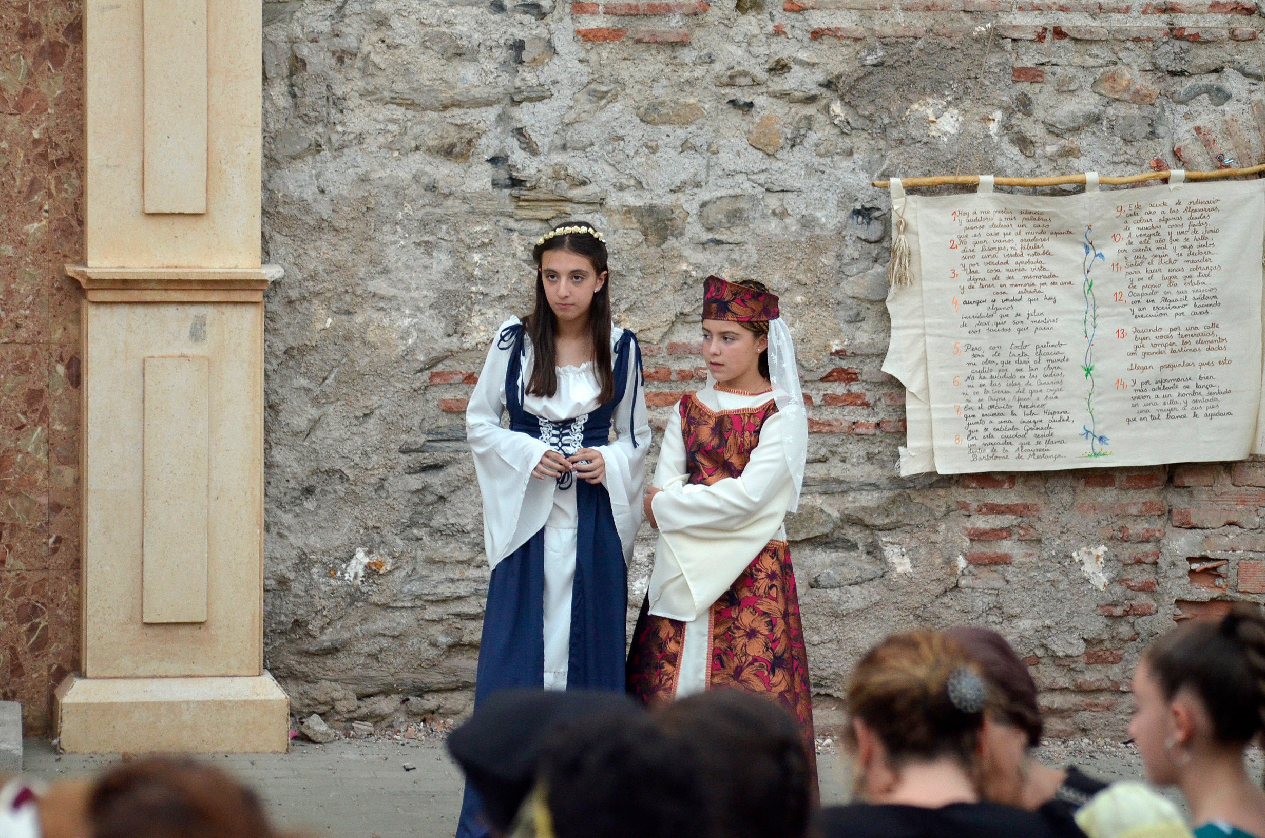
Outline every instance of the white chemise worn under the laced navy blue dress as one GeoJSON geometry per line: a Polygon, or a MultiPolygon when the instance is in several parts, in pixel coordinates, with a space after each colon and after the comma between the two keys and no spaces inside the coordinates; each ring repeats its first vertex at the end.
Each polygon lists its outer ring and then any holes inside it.
{"type": "MultiPolygon", "coordinates": [[[[510,318],[497,334],[519,323],[510,318]]],[[[624,330],[611,327],[611,347],[624,330]]],[[[531,377],[535,354],[531,341],[524,341],[522,372],[517,386],[531,377]]],[[[543,528],[545,572],[545,671],[546,690],[567,687],[567,662],[571,652],[571,596],[576,578],[576,490],[558,489],[554,478],[531,476],[549,446],[535,437],[501,427],[506,410],[505,376],[512,347],[501,349],[496,341],[488,349],[474,392],[466,409],[466,437],[474,454],[474,473],[483,497],[483,546],[493,568],[543,528]]],[[[528,394],[522,408],[530,414],[563,422],[592,413],[601,392],[592,362],[558,367],[558,390],[543,397],[528,394]]],[[[606,463],[602,485],[611,497],[611,513],[619,532],[625,561],[632,556],[632,541],[641,525],[641,487],[645,480],[645,454],[650,446],[645,396],[636,360],[629,358],[624,397],[615,406],[611,424],[615,442],[597,446],[606,463]],[[632,441],[636,441],[634,446],[632,441]]],[[[520,390],[521,392],[521,390],[520,390]]],[[[578,477],[577,477],[578,481],[578,477]]]]}

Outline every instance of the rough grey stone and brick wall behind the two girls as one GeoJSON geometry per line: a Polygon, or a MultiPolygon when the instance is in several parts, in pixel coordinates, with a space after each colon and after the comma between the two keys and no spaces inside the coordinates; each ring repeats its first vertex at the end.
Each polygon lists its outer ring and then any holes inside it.
{"type": "MultiPolygon", "coordinates": [[[[487,567],[462,410],[554,220],[607,230],[658,428],[700,284],[782,294],[812,399],[789,522],[826,727],[884,634],[975,622],[1055,734],[1118,734],[1144,644],[1265,591],[1265,463],[894,476],[879,175],[1265,156],[1250,0],[263,5],[267,665],[302,713],[469,705],[487,567]],[[1080,551],[1104,549],[1097,590],[1080,551]]],[[[1180,457],[1180,452],[1174,454],[1180,457]]],[[[632,568],[640,605],[653,541],[632,568]]]]}

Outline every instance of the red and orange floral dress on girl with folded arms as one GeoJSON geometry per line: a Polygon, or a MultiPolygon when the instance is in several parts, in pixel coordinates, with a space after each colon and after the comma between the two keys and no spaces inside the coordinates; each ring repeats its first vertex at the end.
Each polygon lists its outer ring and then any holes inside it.
{"type": "MultiPolygon", "coordinates": [[[[756,408],[711,410],[696,395],[679,404],[686,467],[691,484],[712,485],[743,473],[760,441],[760,428],[777,413],[770,400],[756,408]]],[[[711,606],[707,689],[736,687],[783,704],[799,722],[813,753],[812,689],[799,622],[791,551],[770,541],[711,606]]],[[[641,605],[627,661],[629,694],[644,704],[677,695],[686,623],[641,605]]]]}

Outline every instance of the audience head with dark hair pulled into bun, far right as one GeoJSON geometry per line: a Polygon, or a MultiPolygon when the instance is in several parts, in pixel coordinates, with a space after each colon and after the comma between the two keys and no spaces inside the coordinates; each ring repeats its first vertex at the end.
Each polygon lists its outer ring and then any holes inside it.
{"type": "Polygon", "coordinates": [[[1265,730],[1265,615],[1236,603],[1217,622],[1180,625],[1146,649],[1133,673],[1128,732],[1155,784],[1182,779],[1193,756],[1242,760],[1265,730]]]}

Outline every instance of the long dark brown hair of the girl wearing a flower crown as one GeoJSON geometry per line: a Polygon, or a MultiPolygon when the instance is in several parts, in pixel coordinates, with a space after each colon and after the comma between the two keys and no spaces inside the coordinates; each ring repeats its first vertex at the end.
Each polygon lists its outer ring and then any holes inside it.
{"type": "MultiPolygon", "coordinates": [[[[567,222],[554,229],[567,227],[597,229],[588,222],[567,222]]],[[[601,385],[601,394],[597,399],[601,404],[606,404],[615,397],[615,372],[611,370],[611,278],[606,266],[606,244],[589,233],[559,233],[536,244],[531,251],[531,260],[536,263],[536,301],[531,314],[524,320],[524,327],[528,330],[528,337],[531,338],[535,365],[531,370],[531,378],[528,381],[528,392],[546,399],[558,392],[558,348],[555,342],[558,318],[549,308],[544,272],[540,270],[540,257],[549,251],[567,251],[583,256],[593,266],[598,277],[607,273],[606,282],[593,294],[593,301],[588,308],[588,334],[593,342],[593,372],[601,385]]]]}

